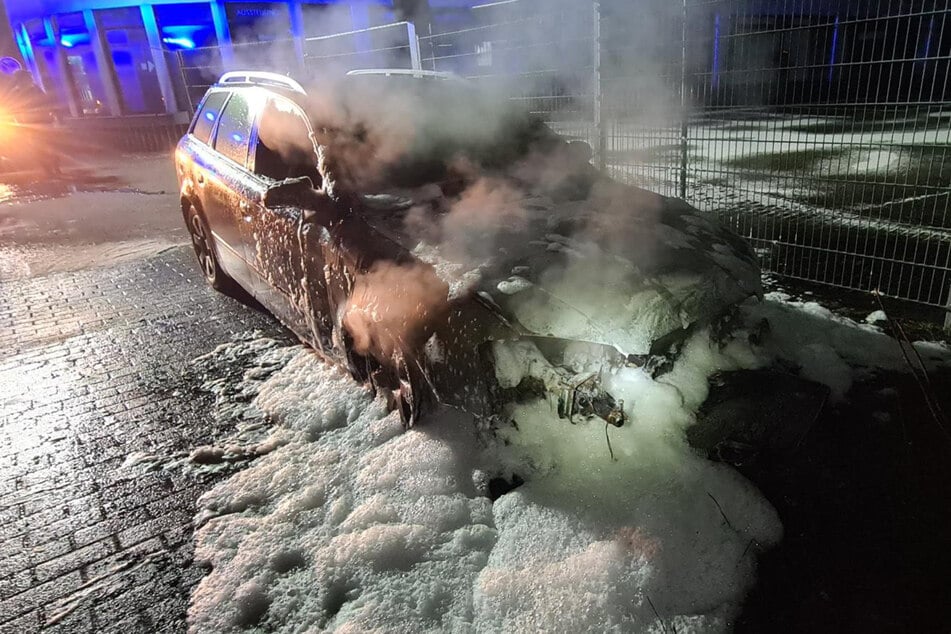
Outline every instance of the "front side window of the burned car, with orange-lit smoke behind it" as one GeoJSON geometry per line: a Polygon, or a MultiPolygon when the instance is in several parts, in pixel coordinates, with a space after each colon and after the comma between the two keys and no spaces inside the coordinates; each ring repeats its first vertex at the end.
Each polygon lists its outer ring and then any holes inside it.
{"type": "Polygon", "coordinates": [[[273,180],[307,176],[320,188],[317,155],[304,115],[282,99],[270,99],[261,113],[254,171],[273,180]]]}

